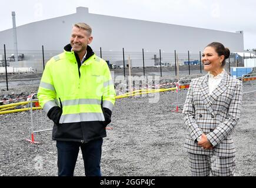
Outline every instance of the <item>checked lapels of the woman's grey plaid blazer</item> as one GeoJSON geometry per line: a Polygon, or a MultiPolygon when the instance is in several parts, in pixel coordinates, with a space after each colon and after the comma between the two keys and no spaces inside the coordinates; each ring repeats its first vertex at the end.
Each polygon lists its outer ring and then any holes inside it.
{"type": "Polygon", "coordinates": [[[225,71],[224,76],[217,86],[217,88],[214,89],[214,91],[209,94],[209,86],[208,86],[208,79],[209,75],[205,75],[202,79],[200,90],[201,90],[201,96],[202,100],[204,100],[205,105],[207,106],[207,109],[211,112],[212,115],[214,115],[214,111],[212,110],[211,106],[215,102],[215,100],[218,99],[218,97],[228,88],[228,81],[230,79],[230,76],[225,71]]]}

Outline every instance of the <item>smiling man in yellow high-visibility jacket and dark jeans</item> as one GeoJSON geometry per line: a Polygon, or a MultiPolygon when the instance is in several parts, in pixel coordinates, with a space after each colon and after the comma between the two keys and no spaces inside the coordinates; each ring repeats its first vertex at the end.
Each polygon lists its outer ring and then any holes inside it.
{"type": "Polygon", "coordinates": [[[115,89],[107,63],[88,46],[91,32],[87,24],[73,26],[70,43],[46,63],[38,89],[39,103],[54,122],[59,176],[74,175],[80,147],[85,175],[101,176],[102,137],[115,89]]]}

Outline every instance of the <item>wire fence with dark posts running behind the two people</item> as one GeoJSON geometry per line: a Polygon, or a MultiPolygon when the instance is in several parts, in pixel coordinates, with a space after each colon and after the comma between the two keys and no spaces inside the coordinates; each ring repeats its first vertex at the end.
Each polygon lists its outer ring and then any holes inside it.
{"type": "MultiPolygon", "coordinates": [[[[114,70],[115,76],[129,76],[129,66],[131,76],[177,76],[205,73],[201,64],[202,52],[162,51],[161,49],[155,52],[144,51],[144,49],[141,49],[141,52],[125,51],[125,49],[115,52],[94,50],[97,56],[107,61],[109,68],[114,70]]],[[[63,51],[44,49],[42,46],[38,50],[18,50],[18,58],[16,58],[15,54],[17,53],[6,46],[5,51],[0,49],[0,67],[5,66],[6,61],[6,66],[32,68],[32,72],[42,73],[46,62],[61,52],[63,51]]],[[[230,72],[231,67],[252,65],[253,62],[256,66],[256,56],[251,54],[250,56],[241,55],[238,57],[237,53],[231,53],[225,69],[230,72]]],[[[4,72],[2,71],[2,74],[4,72]]]]}

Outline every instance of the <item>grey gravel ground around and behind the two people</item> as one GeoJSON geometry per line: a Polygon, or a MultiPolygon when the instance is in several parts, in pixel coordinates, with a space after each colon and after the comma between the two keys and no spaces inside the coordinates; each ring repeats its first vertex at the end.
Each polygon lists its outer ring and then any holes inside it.
{"type": "MultiPolygon", "coordinates": [[[[30,92],[38,86],[12,88],[11,92],[30,92]]],[[[251,90],[250,85],[244,87],[251,90]]],[[[157,103],[155,95],[117,99],[112,123],[102,147],[103,176],[190,176],[184,139],[187,131],[181,113],[175,109],[176,94],[164,92],[157,103]]],[[[236,175],[256,176],[256,92],[244,95],[242,116],[233,133],[237,146],[236,175]]],[[[45,117],[45,116],[44,116],[45,117]]],[[[35,133],[40,144],[30,139],[30,113],[0,115],[0,176],[56,176],[56,146],[51,131],[35,133]]],[[[51,127],[47,118],[44,125],[51,127]]],[[[84,176],[81,152],[75,176],[84,176]]]]}

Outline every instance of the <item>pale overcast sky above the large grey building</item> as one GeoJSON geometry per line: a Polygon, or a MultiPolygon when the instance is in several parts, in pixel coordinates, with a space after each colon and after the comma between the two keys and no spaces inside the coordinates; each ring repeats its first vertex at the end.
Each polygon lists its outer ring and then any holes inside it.
{"type": "Polygon", "coordinates": [[[74,14],[77,6],[89,13],[194,26],[220,31],[244,31],[244,48],[256,48],[255,0],[8,0],[2,3],[0,31],[58,16],[74,14]]]}

